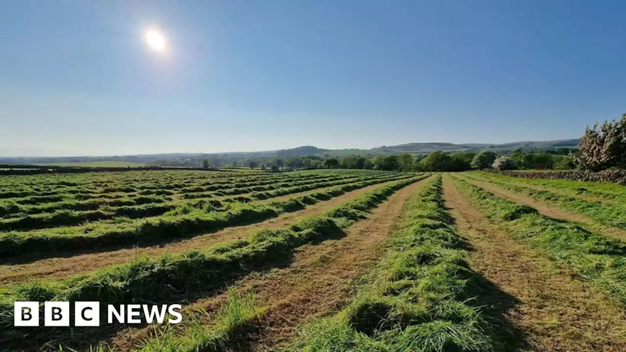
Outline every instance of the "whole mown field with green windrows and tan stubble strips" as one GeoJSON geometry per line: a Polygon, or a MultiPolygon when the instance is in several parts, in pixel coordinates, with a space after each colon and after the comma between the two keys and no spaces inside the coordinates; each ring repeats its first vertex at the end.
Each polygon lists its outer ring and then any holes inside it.
{"type": "Polygon", "coordinates": [[[626,187],[484,172],[0,177],[0,351],[625,351],[626,187]],[[14,301],[182,304],[16,328],[14,301]]]}

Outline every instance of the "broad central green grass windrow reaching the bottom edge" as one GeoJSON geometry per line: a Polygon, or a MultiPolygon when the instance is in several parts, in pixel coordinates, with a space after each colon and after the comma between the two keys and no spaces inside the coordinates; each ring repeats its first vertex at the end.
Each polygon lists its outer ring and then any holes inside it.
{"type": "Polygon", "coordinates": [[[485,287],[451,227],[441,177],[409,200],[371,284],[331,318],[306,326],[285,351],[503,351],[480,306],[485,287]]]}

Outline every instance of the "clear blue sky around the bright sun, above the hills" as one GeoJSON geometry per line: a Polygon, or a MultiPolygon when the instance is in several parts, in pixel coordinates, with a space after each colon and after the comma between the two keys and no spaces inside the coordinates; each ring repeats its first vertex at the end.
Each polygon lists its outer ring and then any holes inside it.
{"type": "Polygon", "coordinates": [[[577,138],[625,39],[621,0],[4,0],[0,155],[577,138]]]}

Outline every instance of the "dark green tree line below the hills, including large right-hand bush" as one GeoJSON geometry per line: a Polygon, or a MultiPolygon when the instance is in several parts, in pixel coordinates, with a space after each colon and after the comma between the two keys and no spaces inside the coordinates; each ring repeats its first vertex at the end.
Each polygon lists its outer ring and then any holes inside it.
{"type": "Polygon", "coordinates": [[[388,171],[465,171],[482,168],[498,170],[581,170],[600,171],[626,168],[626,114],[618,121],[587,127],[578,147],[556,148],[545,152],[523,152],[498,155],[482,152],[433,152],[428,155],[307,155],[304,157],[237,157],[188,158],[186,160],[159,160],[158,165],[197,167],[249,167],[279,171],[285,168],[357,168],[388,171]]]}

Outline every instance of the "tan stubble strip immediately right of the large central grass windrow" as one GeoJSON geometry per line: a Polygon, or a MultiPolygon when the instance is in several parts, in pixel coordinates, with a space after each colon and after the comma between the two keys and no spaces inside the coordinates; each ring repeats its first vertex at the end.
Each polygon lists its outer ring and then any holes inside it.
{"type": "MultiPolygon", "coordinates": [[[[588,282],[491,224],[444,176],[444,197],[471,265],[516,298],[505,316],[535,351],[626,351],[624,311],[588,282]]],[[[493,298],[493,306],[506,306],[493,298]]],[[[518,346],[523,348],[523,346],[518,346]]]]}

